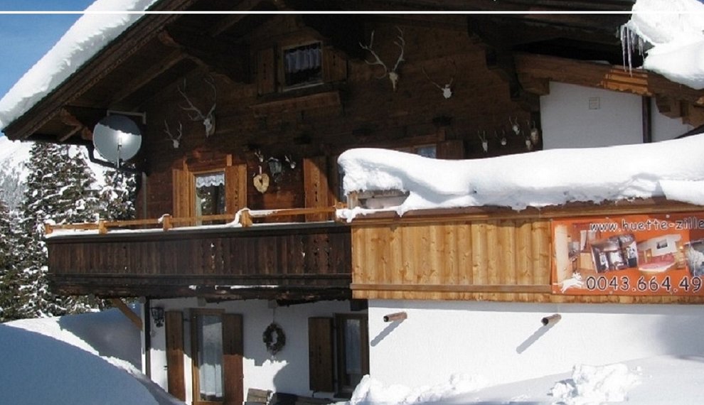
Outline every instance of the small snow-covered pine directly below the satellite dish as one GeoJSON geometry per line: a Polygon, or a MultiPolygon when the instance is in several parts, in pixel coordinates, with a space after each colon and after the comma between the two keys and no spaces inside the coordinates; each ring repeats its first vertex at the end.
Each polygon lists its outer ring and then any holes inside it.
{"type": "Polygon", "coordinates": [[[137,179],[132,173],[108,169],[100,191],[100,217],[108,221],[133,220],[137,179]]]}

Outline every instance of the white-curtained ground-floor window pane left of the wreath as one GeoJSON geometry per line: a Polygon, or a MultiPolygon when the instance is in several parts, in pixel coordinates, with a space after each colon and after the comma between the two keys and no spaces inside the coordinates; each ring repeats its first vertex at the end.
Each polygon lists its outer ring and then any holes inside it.
{"type": "Polygon", "coordinates": [[[218,315],[198,316],[198,386],[201,399],[223,397],[223,323],[218,315]]]}

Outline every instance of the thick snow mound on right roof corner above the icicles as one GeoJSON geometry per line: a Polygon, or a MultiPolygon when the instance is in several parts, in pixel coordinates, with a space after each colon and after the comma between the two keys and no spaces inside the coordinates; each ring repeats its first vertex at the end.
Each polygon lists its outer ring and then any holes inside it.
{"type": "Polygon", "coordinates": [[[704,89],[704,4],[698,0],[637,0],[625,28],[645,48],[643,68],[704,89]]]}

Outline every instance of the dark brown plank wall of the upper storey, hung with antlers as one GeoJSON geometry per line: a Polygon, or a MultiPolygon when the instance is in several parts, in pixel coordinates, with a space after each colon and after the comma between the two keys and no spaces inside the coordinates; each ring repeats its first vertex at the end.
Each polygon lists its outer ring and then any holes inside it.
{"type": "MultiPolygon", "coordinates": [[[[301,18],[280,15],[265,25],[246,33],[242,42],[250,45],[252,80],[235,82],[217,72],[193,65],[181,79],[144,97],[140,110],[158,117],[144,129],[142,153],[147,156],[149,178],[146,199],[138,198],[143,217],[175,215],[183,201],[174,199],[178,178],[171,170],[191,171],[222,168],[223,156],[230,156],[233,166],[245,167],[244,183],[238,187],[246,193],[240,198],[247,207],[279,209],[317,204],[327,188],[334,200],[338,196],[336,156],[348,148],[373,146],[407,148],[436,144],[441,158],[475,158],[518,153],[526,150],[523,138],[509,136],[501,146],[494,131],[509,128],[508,117],[521,124],[535,119],[533,110],[512,98],[508,82],[486,63],[485,48],[467,34],[466,18],[444,16],[446,24],[413,23],[400,25],[405,37],[405,59],[396,92],[388,77],[378,79],[379,66],[368,65],[372,58],[355,42],[352,49],[334,48],[324,36],[306,27],[301,18]],[[282,91],[279,64],[280,50],[296,41],[324,41],[324,72],[321,85],[282,91]],[[353,52],[351,52],[353,50],[353,52]],[[425,72],[424,72],[425,71],[425,72]],[[468,73],[469,72],[469,73],[468,73]],[[426,76],[426,73],[428,76],[426,76]],[[203,82],[210,75],[218,89],[215,134],[206,137],[203,124],[188,119],[180,106],[185,104],[177,91],[186,80],[187,94],[196,106],[208,109],[212,90],[203,82]],[[430,77],[441,84],[452,80],[453,96],[445,99],[430,77]],[[174,148],[164,134],[163,121],[171,129],[183,124],[179,148],[174,148]],[[489,134],[489,152],[484,153],[477,131],[489,134]],[[284,162],[283,175],[272,180],[270,188],[260,193],[252,176],[264,171],[265,158],[290,156],[296,164],[284,162]],[[304,159],[314,159],[320,180],[310,179],[304,159]],[[324,179],[324,177],[327,177],[324,179]],[[309,186],[319,188],[310,190],[309,186]],[[146,207],[142,207],[146,202],[146,207]]],[[[363,38],[375,31],[375,50],[388,63],[398,57],[393,43],[398,22],[380,19],[361,24],[363,38]]],[[[514,95],[515,96],[515,95],[514,95]]],[[[525,101],[525,100],[523,100],[525,101]]]]}

